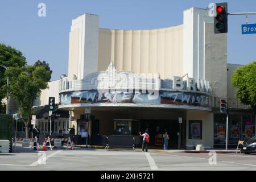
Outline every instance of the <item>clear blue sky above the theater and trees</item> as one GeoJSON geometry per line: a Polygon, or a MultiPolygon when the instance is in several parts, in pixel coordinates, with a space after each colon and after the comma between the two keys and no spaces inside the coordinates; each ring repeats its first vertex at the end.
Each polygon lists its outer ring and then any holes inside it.
{"type": "MultiPolygon", "coordinates": [[[[183,11],[207,8],[208,0],[1,0],[0,42],[19,49],[28,64],[46,60],[52,80],[68,73],[68,39],[73,18],[80,14],[100,15],[100,27],[117,29],[162,28],[183,24],[183,11]],[[46,3],[46,17],[38,16],[38,4],[46,3]]],[[[229,13],[256,11],[255,0],[232,0],[229,13]]],[[[249,16],[256,23],[256,15],[249,16]]],[[[229,16],[228,63],[247,64],[256,60],[256,34],[241,35],[245,15],[229,16]]]]}

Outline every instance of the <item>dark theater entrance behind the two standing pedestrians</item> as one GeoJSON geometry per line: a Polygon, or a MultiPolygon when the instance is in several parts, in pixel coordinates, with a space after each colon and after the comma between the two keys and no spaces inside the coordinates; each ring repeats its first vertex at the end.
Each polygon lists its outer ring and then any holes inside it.
{"type": "MultiPolygon", "coordinates": [[[[181,148],[185,146],[185,122],[181,124],[181,148]]],[[[177,149],[179,147],[179,121],[178,120],[163,120],[163,119],[141,119],[140,120],[140,131],[148,129],[150,134],[149,146],[152,148],[163,148],[163,137],[164,131],[167,131],[170,140],[168,142],[168,149],[177,149]]]]}

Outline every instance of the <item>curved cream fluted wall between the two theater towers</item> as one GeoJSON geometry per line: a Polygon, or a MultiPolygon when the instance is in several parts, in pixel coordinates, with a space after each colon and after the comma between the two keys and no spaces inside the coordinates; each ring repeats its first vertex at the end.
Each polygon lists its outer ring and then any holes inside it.
{"type": "Polygon", "coordinates": [[[160,73],[161,78],[181,76],[183,26],[154,30],[100,28],[98,71],[113,61],[118,71],[160,73]]]}

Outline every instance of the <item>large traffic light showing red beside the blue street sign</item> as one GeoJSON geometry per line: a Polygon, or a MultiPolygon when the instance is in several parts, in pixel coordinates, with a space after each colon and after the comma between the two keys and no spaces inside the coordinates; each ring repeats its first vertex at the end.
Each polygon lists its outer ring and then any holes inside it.
{"type": "Polygon", "coordinates": [[[214,34],[228,32],[228,3],[216,3],[216,16],[214,17],[214,34]]]}

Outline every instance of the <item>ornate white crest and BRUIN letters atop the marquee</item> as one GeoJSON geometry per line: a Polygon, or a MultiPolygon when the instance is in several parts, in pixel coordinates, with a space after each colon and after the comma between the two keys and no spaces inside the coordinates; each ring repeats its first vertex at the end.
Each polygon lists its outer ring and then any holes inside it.
{"type": "MultiPolygon", "coordinates": [[[[202,79],[194,79],[187,77],[174,76],[171,79],[160,79],[159,73],[138,75],[132,72],[119,72],[113,63],[109,64],[106,71],[91,73],[82,80],[68,81],[67,77],[61,79],[60,91],[65,92],[68,89],[79,88],[79,90],[161,90],[174,89],[178,91],[200,91],[211,93],[212,88],[210,82],[202,79]],[[68,84],[67,84],[68,83],[68,84]],[[162,83],[164,86],[162,86],[162,83]]],[[[100,91],[99,91],[100,92],[100,91]]]]}

